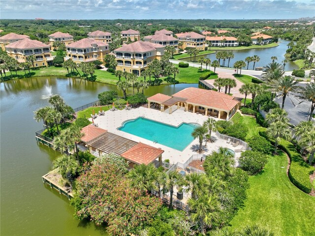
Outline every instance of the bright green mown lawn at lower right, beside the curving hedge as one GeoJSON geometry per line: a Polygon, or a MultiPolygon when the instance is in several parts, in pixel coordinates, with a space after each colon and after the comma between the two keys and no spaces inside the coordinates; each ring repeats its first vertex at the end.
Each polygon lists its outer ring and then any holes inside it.
{"type": "MultiPolygon", "coordinates": [[[[249,128],[247,139],[265,128],[255,118],[234,115],[233,122],[242,122],[249,128]]],[[[244,207],[230,222],[233,229],[246,225],[267,226],[276,236],[315,235],[315,197],[295,187],[286,175],[286,155],[279,151],[271,156],[261,174],[250,176],[250,188],[244,207]]]]}

